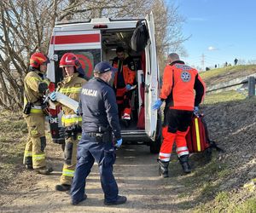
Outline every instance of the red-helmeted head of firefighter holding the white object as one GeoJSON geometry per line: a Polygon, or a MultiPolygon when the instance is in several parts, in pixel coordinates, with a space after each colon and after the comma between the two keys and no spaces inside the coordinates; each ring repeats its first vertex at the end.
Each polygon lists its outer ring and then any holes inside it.
{"type": "Polygon", "coordinates": [[[77,69],[80,66],[79,58],[73,53],[66,53],[62,55],[60,60],[60,67],[62,67],[65,75],[72,76],[74,72],[79,72],[80,75],[84,76],[84,73],[80,73],[80,69],[77,69]]]}

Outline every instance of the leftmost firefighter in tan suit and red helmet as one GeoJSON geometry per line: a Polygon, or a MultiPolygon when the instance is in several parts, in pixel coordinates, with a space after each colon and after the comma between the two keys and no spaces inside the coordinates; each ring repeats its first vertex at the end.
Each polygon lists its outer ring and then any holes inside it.
{"type": "Polygon", "coordinates": [[[24,109],[28,129],[23,164],[26,169],[36,170],[39,174],[49,175],[53,170],[45,163],[44,148],[44,95],[48,89],[49,79],[45,78],[48,58],[43,53],[34,53],[30,58],[29,72],[24,78],[24,109]]]}

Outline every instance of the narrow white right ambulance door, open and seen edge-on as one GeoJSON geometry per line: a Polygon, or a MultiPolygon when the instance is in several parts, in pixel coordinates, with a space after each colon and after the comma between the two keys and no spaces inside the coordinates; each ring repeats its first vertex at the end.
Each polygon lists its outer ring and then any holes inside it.
{"type": "Polygon", "coordinates": [[[152,106],[158,98],[159,81],[156,44],[154,38],[154,17],[152,12],[147,15],[146,20],[149,39],[145,48],[145,131],[151,140],[155,141],[158,112],[156,110],[152,110],[152,106]]]}

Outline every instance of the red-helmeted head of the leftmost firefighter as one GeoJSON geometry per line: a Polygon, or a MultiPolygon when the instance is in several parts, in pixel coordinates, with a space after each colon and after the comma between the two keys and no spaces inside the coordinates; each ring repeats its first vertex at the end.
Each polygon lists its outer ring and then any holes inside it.
{"type": "Polygon", "coordinates": [[[48,57],[41,52],[32,54],[29,60],[30,68],[40,72],[46,72],[48,63],[48,57]]]}

